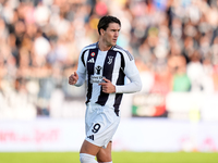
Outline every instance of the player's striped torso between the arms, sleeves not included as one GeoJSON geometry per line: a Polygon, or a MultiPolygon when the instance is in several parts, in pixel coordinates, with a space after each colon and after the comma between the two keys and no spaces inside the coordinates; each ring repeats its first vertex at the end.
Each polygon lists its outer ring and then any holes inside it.
{"type": "Polygon", "coordinates": [[[89,49],[84,57],[87,77],[87,102],[113,106],[116,93],[104,93],[99,83],[102,78],[109,79],[113,85],[124,82],[121,71],[122,57],[118,51],[100,51],[98,48],[89,49]]]}

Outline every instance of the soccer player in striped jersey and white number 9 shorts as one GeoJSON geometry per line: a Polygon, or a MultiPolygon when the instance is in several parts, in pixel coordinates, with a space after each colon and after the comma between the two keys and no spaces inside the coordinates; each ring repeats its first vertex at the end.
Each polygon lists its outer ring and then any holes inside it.
{"type": "Polygon", "coordinates": [[[69,84],[74,86],[87,80],[86,138],[80,151],[81,163],[112,163],[111,143],[120,123],[122,96],[142,89],[133,55],[117,46],[120,28],[117,17],[101,17],[98,42],[81,51],[77,71],[69,77],[69,84]],[[130,79],[128,84],[125,76],[130,79]]]}

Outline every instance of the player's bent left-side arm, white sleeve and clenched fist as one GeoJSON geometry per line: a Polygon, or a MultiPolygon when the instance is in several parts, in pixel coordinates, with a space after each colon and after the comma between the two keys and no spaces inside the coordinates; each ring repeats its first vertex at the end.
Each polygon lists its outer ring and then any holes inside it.
{"type": "Polygon", "coordinates": [[[74,86],[82,86],[86,79],[86,66],[85,66],[85,52],[84,50],[82,50],[80,58],[78,58],[78,66],[77,66],[77,71],[74,72],[73,74],[71,74],[71,76],[69,76],[69,84],[70,85],[74,85],[74,86]]]}

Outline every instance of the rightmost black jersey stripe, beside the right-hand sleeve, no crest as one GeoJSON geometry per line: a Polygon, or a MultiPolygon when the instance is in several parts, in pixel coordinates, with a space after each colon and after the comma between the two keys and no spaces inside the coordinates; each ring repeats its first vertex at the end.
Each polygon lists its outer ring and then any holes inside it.
{"type": "MultiPolygon", "coordinates": [[[[118,77],[118,80],[116,83],[116,85],[124,85],[124,77],[125,77],[125,74],[123,72],[124,70],[124,58],[123,58],[123,54],[121,52],[119,52],[120,55],[121,55],[121,67],[120,67],[120,71],[119,71],[119,77],[118,77]],[[122,70],[123,68],[123,70],[122,70]]],[[[116,100],[114,100],[114,104],[113,104],[113,108],[114,108],[114,112],[117,115],[119,115],[119,106],[120,106],[120,103],[121,103],[121,100],[122,100],[122,96],[123,93],[117,93],[116,95],[116,100]]]]}

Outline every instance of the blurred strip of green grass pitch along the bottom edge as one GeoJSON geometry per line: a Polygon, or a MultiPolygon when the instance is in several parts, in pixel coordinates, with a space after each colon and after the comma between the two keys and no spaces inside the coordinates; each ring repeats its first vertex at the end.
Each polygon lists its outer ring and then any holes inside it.
{"type": "MultiPolygon", "coordinates": [[[[218,163],[218,153],[113,152],[113,163],[218,163]]],[[[0,163],[80,163],[77,152],[2,152],[0,163]]]]}

